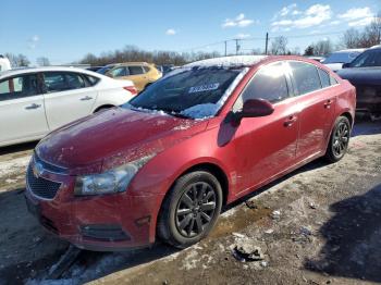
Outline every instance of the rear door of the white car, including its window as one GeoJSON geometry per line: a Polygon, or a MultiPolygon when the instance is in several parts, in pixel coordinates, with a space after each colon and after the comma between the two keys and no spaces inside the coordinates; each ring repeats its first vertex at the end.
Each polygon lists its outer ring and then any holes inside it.
{"type": "Polygon", "coordinates": [[[45,72],[45,108],[50,131],[89,115],[97,90],[74,72],[45,72]]]}

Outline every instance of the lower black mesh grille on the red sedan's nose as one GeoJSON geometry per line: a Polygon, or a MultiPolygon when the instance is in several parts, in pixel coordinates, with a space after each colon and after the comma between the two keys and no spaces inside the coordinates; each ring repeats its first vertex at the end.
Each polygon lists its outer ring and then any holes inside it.
{"type": "Polygon", "coordinates": [[[26,179],[30,191],[44,199],[53,199],[61,186],[61,183],[36,177],[33,174],[32,164],[28,166],[26,179]]]}

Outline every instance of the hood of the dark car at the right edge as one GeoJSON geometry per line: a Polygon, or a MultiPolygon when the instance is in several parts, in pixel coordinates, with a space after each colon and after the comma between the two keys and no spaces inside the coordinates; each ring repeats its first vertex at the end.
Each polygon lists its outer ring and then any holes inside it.
{"type": "Polygon", "coordinates": [[[381,67],[354,67],[337,71],[337,74],[354,85],[380,85],[381,67]]]}

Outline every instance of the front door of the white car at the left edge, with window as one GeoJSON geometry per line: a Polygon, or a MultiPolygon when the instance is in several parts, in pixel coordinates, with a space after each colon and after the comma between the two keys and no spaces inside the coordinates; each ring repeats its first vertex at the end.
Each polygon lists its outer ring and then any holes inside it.
{"type": "Polygon", "coordinates": [[[0,80],[0,145],[36,139],[48,133],[38,74],[0,80]]]}

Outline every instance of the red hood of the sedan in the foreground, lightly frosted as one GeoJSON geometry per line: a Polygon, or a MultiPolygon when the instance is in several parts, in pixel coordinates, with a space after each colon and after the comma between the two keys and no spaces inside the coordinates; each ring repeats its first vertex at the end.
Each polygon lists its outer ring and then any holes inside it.
{"type": "Polygon", "coordinates": [[[36,153],[71,174],[95,173],[159,153],[202,132],[207,122],[114,108],[50,133],[36,153]]]}

